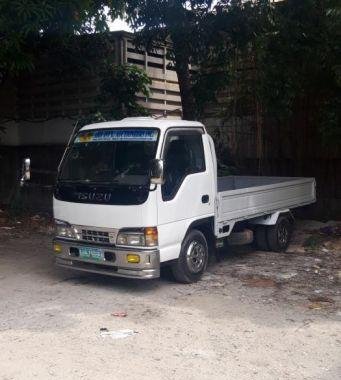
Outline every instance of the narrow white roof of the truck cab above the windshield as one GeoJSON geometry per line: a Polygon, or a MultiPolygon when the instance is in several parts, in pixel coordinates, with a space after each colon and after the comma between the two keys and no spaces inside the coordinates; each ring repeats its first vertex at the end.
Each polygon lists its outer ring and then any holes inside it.
{"type": "Polygon", "coordinates": [[[118,121],[105,121],[102,123],[88,124],[81,128],[84,130],[105,129],[105,128],[159,128],[167,129],[169,127],[202,127],[204,125],[198,121],[176,120],[176,119],[154,119],[152,117],[127,117],[118,121]]]}

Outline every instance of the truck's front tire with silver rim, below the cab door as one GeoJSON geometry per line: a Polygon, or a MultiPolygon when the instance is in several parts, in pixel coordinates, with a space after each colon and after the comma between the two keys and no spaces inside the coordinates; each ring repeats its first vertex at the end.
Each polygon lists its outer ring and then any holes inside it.
{"type": "Polygon", "coordinates": [[[204,234],[191,230],[181,245],[178,260],[172,264],[177,282],[191,284],[200,280],[208,263],[208,245],[204,234]]]}

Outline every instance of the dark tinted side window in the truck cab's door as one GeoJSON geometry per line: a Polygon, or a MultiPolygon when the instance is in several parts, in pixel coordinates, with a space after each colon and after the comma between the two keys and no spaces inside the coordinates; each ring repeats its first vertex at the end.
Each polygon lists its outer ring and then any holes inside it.
{"type": "Polygon", "coordinates": [[[163,158],[165,183],[161,187],[161,192],[162,199],[168,201],[175,197],[188,175],[206,170],[201,133],[199,131],[168,133],[163,158]]]}

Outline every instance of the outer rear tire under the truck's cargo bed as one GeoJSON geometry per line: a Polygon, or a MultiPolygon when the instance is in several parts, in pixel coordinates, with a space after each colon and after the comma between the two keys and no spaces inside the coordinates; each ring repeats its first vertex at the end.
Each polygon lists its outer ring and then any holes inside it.
{"type": "Polygon", "coordinates": [[[270,251],[284,252],[290,243],[292,226],[289,219],[280,216],[274,226],[267,228],[267,240],[270,251]]]}

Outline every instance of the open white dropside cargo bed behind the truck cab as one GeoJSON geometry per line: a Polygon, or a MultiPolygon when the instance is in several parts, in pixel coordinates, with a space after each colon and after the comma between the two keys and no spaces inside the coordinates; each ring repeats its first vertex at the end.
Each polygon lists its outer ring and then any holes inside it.
{"type": "Polygon", "coordinates": [[[217,235],[235,222],[315,202],[315,179],[299,177],[218,177],[217,235]]]}

